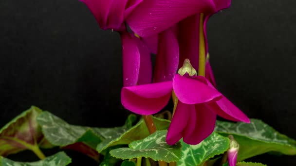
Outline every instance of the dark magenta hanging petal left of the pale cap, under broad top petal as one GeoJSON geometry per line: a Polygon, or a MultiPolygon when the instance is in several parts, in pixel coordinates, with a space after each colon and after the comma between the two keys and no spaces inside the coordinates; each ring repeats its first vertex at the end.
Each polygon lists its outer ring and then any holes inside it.
{"type": "Polygon", "coordinates": [[[179,46],[174,29],[160,33],[158,44],[153,82],[172,81],[179,63],[179,46]]]}

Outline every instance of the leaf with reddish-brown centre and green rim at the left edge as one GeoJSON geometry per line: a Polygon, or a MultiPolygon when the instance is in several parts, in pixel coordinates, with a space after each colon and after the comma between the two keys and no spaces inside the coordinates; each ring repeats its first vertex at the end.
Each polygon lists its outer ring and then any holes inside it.
{"type": "Polygon", "coordinates": [[[32,106],[0,129],[1,156],[25,149],[34,152],[38,150],[38,143],[42,140],[43,134],[37,124],[36,117],[41,112],[39,108],[32,106]]]}

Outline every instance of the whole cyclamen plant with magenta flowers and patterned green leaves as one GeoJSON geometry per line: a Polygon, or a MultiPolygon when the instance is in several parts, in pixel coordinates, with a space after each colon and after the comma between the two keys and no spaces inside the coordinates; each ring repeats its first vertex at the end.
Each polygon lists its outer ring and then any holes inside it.
{"type": "Polygon", "coordinates": [[[0,130],[1,166],[71,163],[64,152],[46,157],[39,149],[56,146],[80,151],[100,166],[263,166],[242,161],[270,151],[296,155],[295,140],[249,119],[216,89],[206,23],[230,0],[81,1],[100,28],[120,34],[121,102],[142,118],[131,114],[121,127],[91,128],[32,106],[0,130]],[[171,99],[173,109],[157,114],[171,99]],[[237,123],[218,121],[217,115],[237,123]],[[26,149],[41,160],[4,158],[26,149]]]}

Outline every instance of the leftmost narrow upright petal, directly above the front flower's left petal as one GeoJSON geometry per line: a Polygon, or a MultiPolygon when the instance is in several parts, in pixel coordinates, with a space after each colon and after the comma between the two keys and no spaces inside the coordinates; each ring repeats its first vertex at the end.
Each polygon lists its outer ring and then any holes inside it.
{"type": "Polygon", "coordinates": [[[121,32],[123,86],[133,86],[138,82],[140,70],[140,50],[137,40],[128,32],[121,32]]]}

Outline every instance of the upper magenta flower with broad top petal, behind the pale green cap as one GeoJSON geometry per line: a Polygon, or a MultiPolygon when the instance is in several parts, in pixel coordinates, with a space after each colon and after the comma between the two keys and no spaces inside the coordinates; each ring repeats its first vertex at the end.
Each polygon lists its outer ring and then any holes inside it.
{"type": "MultiPolygon", "coordinates": [[[[194,68],[198,68],[199,51],[208,51],[207,20],[211,15],[228,8],[230,2],[231,0],[143,0],[133,10],[126,18],[131,30],[141,37],[158,37],[158,42],[153,42],[158,46],[154,82],[171,81],[186,58],[190,59],[194,68]],[[200,38],[201,35],[204,36],[203,39],[200,38]],[[201,42],[205,46],[200,47],[201,42]]],[[[210,71],[208,63],[206,77],[212,75],[210,71]]],[[[209,81],[215,84],[214,80],[209,81]]]]}

